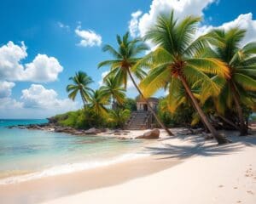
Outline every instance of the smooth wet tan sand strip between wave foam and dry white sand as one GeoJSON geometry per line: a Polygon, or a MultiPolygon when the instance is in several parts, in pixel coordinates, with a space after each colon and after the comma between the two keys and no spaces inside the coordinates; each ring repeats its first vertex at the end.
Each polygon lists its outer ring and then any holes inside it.
{"type": "Polygon", "coordinates": [[[77,194],[84,190],[123,184],[135,178],[148,176],[177,165],[177,159],[160,160],[160,156],[147,156],[122,161],[107,167],[96,167],[81,172],[55,175],[16,184],[0,185],[3,203],[38,203],[58,197],[77,194]]]}

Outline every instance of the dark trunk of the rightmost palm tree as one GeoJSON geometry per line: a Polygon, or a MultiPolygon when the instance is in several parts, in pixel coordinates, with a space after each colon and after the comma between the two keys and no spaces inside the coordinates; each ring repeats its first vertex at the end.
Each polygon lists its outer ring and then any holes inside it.
{"type": "Polygon", "coordinates": [[[247,127],[244,123],[245,120],[243,118],[243,113],[242,113],[242,110],[241,110],[239,96],[236,93],[236,88],[235,88],[235,86],[232,82],[230,82],[230,87],[231,87],[231,90],[233,92],[234,101],[235,101],[235,105],[236,105],[236,111],[238,113],[238,118],[239,118],[239,123],[240,123],[240,128],[239,128],[240,129],[240,136],[245,136],[245,135],[248,134],[248,131],[247,131],[247,127]]]}

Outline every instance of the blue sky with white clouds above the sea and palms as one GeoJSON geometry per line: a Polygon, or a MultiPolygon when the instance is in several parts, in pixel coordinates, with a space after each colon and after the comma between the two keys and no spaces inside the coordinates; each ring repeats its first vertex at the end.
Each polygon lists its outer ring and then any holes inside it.
{"type": "MultiPolygon", "coordinates": [[[[246,28],[250,31],[246,40],[254,40],[253,36],[256,36],[256,2],[253,0],[181,0],[180,2],[182,4],[177,3],[177,0],[2,0],[0,3],[0,118],[45,117],[79,108],[79,99],[77,104],[67,100],[65,88],[68,77],[73,76],[76,71],[85,71],[95,81],[92,88],[98,88],[102,72],[108,71],[108,67],[97,70],[96,66],[100,61],[110,57],[102,53],[102,45],[105,43],[115,45],[116,34],[129,31],[131,14],[138,10],[140,12],[133,18],[136,35],[143,35],[147,25],[154,22],[155,14],[174,8],[179,10],[177,15],[180,17],[187,14],[203,15],[202,32],[214,26],[229,27],[229,24],[225,25],[226,22],[229,22],[230,26],[236,23],[245,26],[244,22],[247,22],[246,28]],[[239,18],[241,14],[244,15],[239,18]],[[85,43],[87,46],[79,45],[84,40],[79,36],[79,32],[83,31],[96,33],[95,41],[88,42],[90,45],[87,42],[85,43]],[[13,45],[8,45],[8,42],[13,42],[13,45]],[[20,49],[19,52],[26,53],[26,56],[19,58],[20,55],[16,54],[12,59],[12,54],[15,53],[13,49],[6,54],[7,48],[12,47],[17,50],[15,46],[22,48],[23,42],[25,51],[20,49]],[[37,59],[38,54],[45,55],[41,56],[38,64],[32,63],[37,59]],[[50,59],[51,57],[54,59],[50,59]],[[6,64],[9,60],[16,60],[12,71],[18,71],[19,65],[23,70],[32,67],[31,73],[26,71],[25,74],[31,77],[24,75],[19,77],[17,74],[18,77],[10,78],[7,74],[9,66],[6,64]],[[49,65],[49,69],[44,71],[44,67],[41,67],[42,61],[47,61],[47,65],[49,63],[53,65],[49,65]],[[57,68],[54,67],[55,65],[57,68]],[[42,75],[39,70],[44,71],[44,78],[40,78],[42,75]],[[40,99],[41,102],[38,101],[40,99]],[[49,100],[53,103],[47,104],[49,100]],[[56,109],[49,107],[55,104],[58,106],[56,109]]],[[[133,88],[128,89],[128,95],[136,95],[133,88]]]]}

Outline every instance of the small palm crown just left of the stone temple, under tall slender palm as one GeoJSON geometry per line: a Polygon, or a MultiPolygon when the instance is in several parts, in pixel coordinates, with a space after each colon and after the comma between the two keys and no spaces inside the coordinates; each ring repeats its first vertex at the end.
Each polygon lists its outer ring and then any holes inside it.
{"type": "Polygon", "coordinates": [[[104,80],[104,85],[101,87],[102,97],[113,99],[113,105],[117,102],[118,105],[123,105],[125,101],[125,88],[122,88],[119,82],[113,77],[108,76],[104,80]]]}

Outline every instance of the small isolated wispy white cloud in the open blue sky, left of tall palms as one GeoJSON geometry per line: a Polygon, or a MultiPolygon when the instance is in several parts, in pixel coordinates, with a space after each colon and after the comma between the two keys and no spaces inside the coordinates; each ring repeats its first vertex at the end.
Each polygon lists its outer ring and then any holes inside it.
{"type": "Polygon", "coordinates": [[[79,42],[79,46],[83,47],[93,47],[93,46],[101,46],[102,37],[96,34],[95,31],[91,30],[81,30],[81,26],[78,26],[75,30],[77,36],[81,37],[81,41],[79,42]]]}

